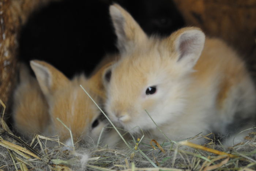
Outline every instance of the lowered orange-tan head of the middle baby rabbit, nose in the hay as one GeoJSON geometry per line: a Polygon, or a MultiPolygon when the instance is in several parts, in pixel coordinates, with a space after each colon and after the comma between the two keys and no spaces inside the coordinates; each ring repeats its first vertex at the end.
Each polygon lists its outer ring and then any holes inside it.
{"type": "Polygon", "coordinates": [[[101,113],[97,106],[80,87],[82,85],[88,89],[89,94],[98,102],[98,97],[89,89],[86,77],[79,75],[69,80],[63,73],[43,61],[31,61],[30,65],[48,102],[54,133],[58,134],[61,140],[70,137],[69,131],[56,119],[60,118],[71,129],[75,141],[81,136],[83,139],[97,140],[106,124],[101,122],[101,113]],[[95,128],[94,122],[99,122],[95,128]]]}

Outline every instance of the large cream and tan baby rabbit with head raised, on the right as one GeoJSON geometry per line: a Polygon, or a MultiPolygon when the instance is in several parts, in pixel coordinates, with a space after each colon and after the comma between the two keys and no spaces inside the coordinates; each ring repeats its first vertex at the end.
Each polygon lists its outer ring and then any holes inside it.
{"type": "Polygon", "coordinates": [[[226,135],[252,126],[256,91],[244,62],[223,41],[196,27],[148,37],[114,4],[110,15],[121,59],[107,83],[106,111],[131,133],[181,140],[206,130],[226,135]]]}

